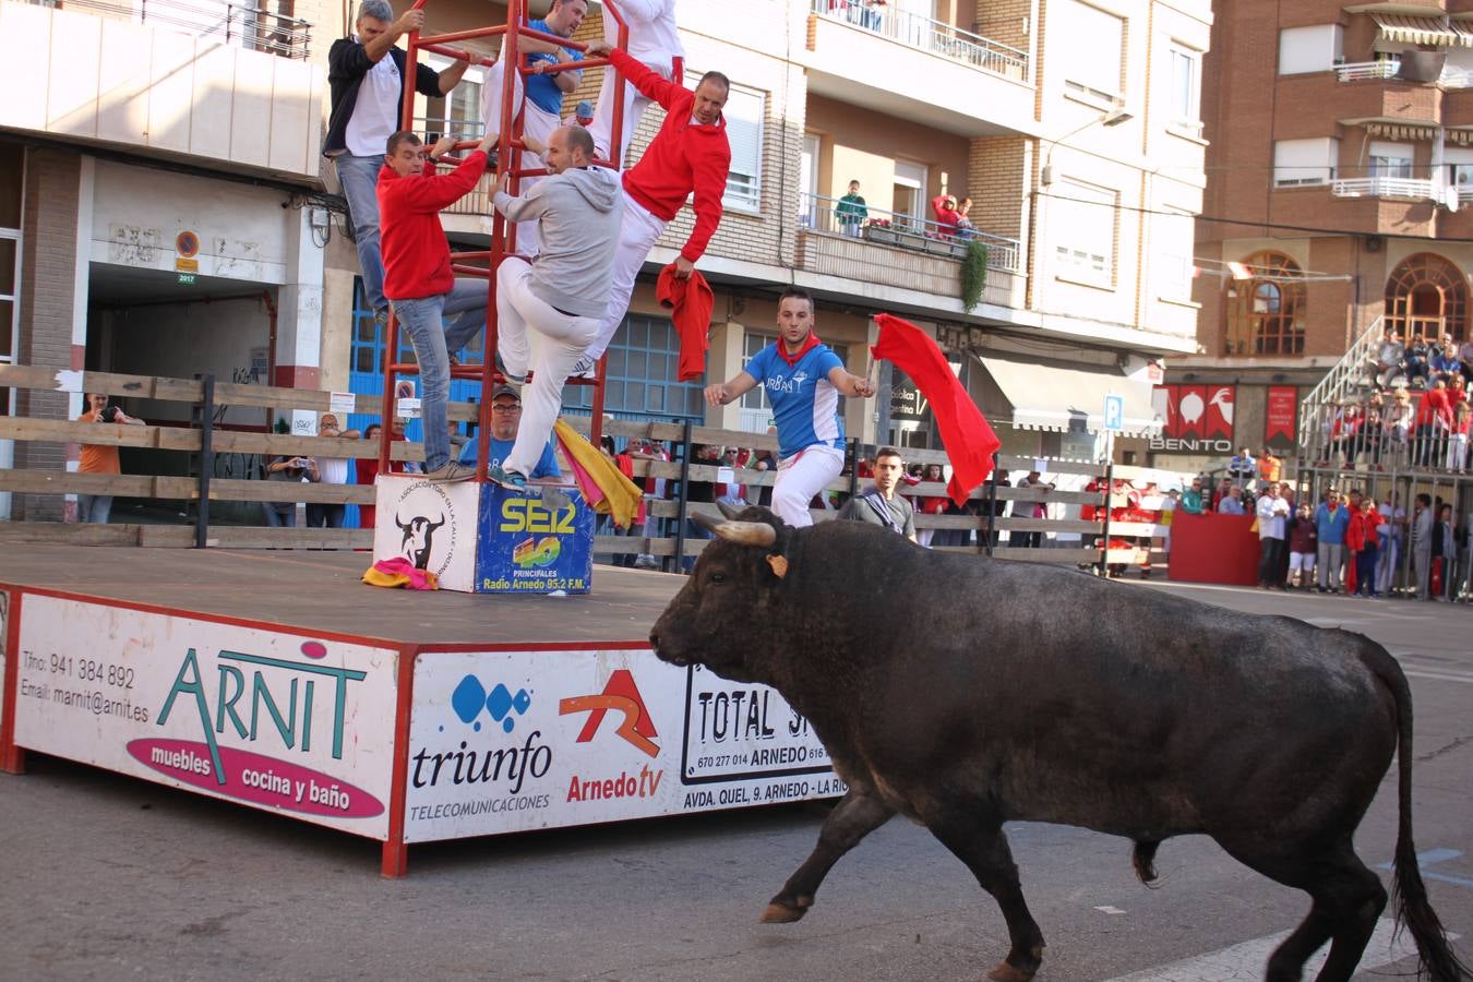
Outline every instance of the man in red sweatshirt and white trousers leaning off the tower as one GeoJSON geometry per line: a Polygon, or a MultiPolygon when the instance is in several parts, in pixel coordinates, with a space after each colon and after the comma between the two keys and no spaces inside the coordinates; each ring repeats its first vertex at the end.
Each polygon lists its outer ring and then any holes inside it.
{"type": "Polygon", "coordinates": [[[722,118],[722,107],[731,91],[731,81],[725,75],[706,72],[691,93],[607,41],[589,44],[588,53],[595,57],[607,56],[635,88],[664,107],[666,116],[644,156],[623,174],[625,216],[619,230],[608,314],[588,355],[573,367],[574,375],[592,375],[629,311],[635,278],[650,249],[692,193],[695,228],[675,261],[675,275],[685,280],[695,269],[706,243],[722,221],[722,196],[726,193],[726,172],[732,162],[726,121],[722,118]]]}

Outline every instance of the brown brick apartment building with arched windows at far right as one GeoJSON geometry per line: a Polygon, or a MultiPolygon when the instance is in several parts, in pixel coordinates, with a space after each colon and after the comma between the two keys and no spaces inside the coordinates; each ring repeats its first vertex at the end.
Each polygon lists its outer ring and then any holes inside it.
{"type": "MultiPolygon", "coordinates": [[[[1231,439],[1295,445],[1293,403],[1377,322],[1467,336],[1473,3],[1223,4],[1203,84],[1200,352],[1177,393],[1236,390],[1231,439]],[[1273,409],[1270,409],[1273,406],[1273,409]]],[[[1214,446],[1215,443],[1215,446],[1214,446]]]]}

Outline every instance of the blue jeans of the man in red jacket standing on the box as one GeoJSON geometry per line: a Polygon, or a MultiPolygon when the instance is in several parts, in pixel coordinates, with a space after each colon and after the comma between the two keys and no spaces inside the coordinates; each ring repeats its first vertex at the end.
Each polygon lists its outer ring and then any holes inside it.
{"type": "Polygon", "coordinates": [[[446,403],[451,396],[451,352],[458,352],[486,325],[485,280],[457,277],[449,293],[395,300],[393,312],[414,343],[420,362],[420,411],[424,418],[424,470],[437,471],[451,459],[446,403]],[[445,318],[455,319],[445,324],[445,318]]]}

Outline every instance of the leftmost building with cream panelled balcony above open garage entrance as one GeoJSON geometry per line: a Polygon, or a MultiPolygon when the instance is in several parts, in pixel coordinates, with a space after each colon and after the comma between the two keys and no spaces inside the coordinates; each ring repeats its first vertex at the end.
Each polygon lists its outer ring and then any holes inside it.
{"type": "MultiPolygon", "coordinates": [[[[317,4],[287,7],[0,1],[0,362],[317,384],[326,84],[317,4]]],[[[6,395],[4,412],[81,411],[78,393],[6,395]]],[[[0,467],[65,456],[0,442],[0,467]]]]}

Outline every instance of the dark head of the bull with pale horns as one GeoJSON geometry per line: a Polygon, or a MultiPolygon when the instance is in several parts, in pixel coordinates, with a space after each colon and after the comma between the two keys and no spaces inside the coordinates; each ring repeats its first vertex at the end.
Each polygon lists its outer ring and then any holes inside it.
{"type": "Polygon", "coordinates": [[[722,504],[726,520],[697,512],[695,521],[717,542],[700,562],[650,632],[650,646],[676,665],[704,664],[738,682],[756,682],[747,665],[753,621],[788,573],[784,549],[792,529],[766,508],[741,512],[722,504]]]}

